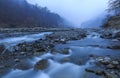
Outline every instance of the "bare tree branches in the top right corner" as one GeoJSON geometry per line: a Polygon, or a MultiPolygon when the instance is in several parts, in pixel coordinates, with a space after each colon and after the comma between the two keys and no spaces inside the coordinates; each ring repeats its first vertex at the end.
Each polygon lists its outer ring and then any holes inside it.
{"type": "Polygon", "coordinates": [[[113,11],[115,15],[120,15],[120,0],[109,0],[109,11],[113,11]]]}

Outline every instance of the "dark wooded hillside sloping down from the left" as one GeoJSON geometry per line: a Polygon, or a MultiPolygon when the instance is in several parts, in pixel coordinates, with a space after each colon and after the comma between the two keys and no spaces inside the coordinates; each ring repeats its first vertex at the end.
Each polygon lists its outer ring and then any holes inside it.
{"type": "Polygon", "coordinates": [[[26,0],[0,0],[0,27],[61,27],[63,18],[26,0]]]}

